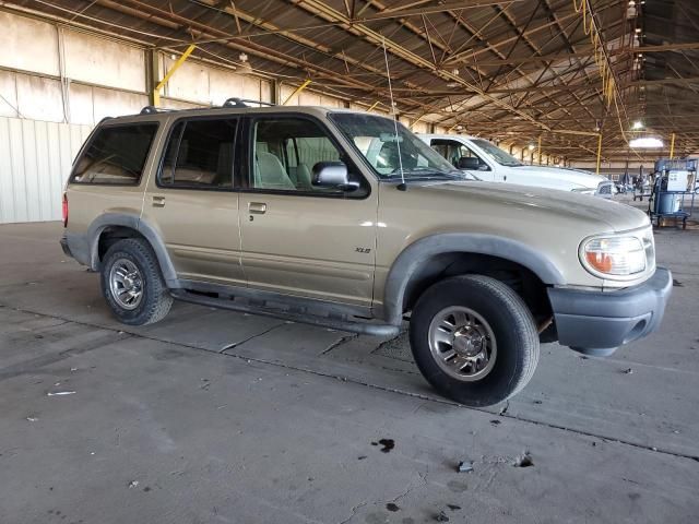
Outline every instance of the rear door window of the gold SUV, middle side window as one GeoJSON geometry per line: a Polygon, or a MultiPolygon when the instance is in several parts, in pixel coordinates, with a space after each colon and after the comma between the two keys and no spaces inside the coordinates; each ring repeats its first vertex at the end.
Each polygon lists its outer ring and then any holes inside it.
{"type": "Polygon", "coordinates": [[[183,120],[170,133],[161,186],[232,189],[237,119],[183,120]]]}

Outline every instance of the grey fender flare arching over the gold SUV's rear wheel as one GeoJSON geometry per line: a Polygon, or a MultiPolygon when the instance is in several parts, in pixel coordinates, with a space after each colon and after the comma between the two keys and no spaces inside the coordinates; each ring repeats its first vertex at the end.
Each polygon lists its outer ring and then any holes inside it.
{"type": "Polygon", "coordinates": [[[93,221],[87,229],[87,238],[90,239],[90,266],[93,270],[97,271],[99,267],[99,253],[97,249],[99,246],[99,236],[102,231],[109,226],[129,227],[143,235],[155,252],[155,257],[161,265],[161,271],[163,272],[163,278],[165,278],[168,287],[180,287],[177,272],[175,271],[175,266],[162,238],[153,226],[141,219],[135,213],[105,213],[93,221]]]}

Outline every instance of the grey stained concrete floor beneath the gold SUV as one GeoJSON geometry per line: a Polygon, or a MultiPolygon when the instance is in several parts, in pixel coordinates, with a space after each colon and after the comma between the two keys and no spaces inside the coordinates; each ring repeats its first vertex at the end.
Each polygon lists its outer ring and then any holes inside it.
{"type": "Polygon", "coordinates": [[[0,523],[699,520],[699,231],[657,234],[660,333],[545,345],[489,410],[436,396],[400,341],[183,303],[127,329],[60,233],[0,227],[0,523]]]}

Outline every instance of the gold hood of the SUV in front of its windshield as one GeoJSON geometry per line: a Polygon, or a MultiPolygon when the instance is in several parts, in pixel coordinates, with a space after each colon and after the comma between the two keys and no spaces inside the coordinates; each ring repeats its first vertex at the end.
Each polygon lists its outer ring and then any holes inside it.
{"type": "Polygon", "coordinates": [[[437,200],[457,198],[477,202],[478,206],[485,205],[490,209],[494,217],[497,217],[500,207],[502,212],[519,211],[522,218],[532,214],[548,215],[547,219],[550,221],[572,219],[581,224],[606,224],[609,230],[614,231],[637,229],[649,224],[645,213],[630,205],[574,192],[474,181],[412,183],[408,191],[413,186],[419,186],[420,190],[433,193],[431,196],[437,200]]]}

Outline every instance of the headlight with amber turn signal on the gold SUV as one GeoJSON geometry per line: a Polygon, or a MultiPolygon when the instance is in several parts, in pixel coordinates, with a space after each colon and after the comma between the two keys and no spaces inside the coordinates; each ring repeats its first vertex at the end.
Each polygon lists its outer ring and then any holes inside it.
{"type": "Polygon", "coordinates": [[[632,236],[593,237],[581,245],[580,259],[585,269],[597,276],[642,273],[647,264],[643,240],[632,236]]]}

